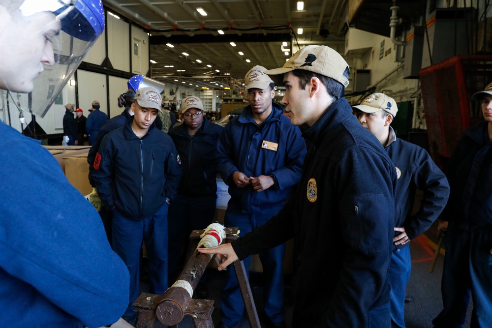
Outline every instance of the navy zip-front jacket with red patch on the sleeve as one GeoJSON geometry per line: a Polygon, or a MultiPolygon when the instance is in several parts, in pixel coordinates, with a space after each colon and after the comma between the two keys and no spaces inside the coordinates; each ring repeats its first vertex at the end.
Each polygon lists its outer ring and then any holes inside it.
{"type": "Polygon", "coordinates": [[[133,117],[103,138],[92,178],[104,206],[139,220],[174,198],[182,171],[171,137],[153,124],[140,139],[132,122],[133,117]]]}

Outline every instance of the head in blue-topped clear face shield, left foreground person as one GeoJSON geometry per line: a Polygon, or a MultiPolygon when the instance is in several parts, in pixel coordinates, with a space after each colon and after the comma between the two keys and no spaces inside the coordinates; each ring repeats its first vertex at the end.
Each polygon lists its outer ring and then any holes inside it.
{"type": "MultiPolygon", "coordinates": [[[[101,0],[0,0],[0,88],[28,94],[44,117],[104,29],[101,0]],[[3,53],[3,55],[2,55],[3,53]]],[[[14,99],[10,99],[14,101],[14,99]]]]}

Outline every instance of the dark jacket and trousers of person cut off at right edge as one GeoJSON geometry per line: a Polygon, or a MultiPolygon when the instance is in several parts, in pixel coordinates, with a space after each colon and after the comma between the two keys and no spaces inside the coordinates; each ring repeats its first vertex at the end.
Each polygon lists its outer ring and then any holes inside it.
{"type": "Polygon", "coordinates": [[[487,121],[465,130],[448,165],[451,194],[441,293],[434,327],[462,327],[473,298],[471,327],[492,327],[492,149],[487,121]]]}

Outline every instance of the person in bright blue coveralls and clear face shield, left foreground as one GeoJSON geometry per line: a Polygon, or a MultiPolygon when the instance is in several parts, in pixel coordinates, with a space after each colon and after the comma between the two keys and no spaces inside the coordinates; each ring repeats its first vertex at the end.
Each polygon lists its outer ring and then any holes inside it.
{"type": "MultiPolygon", "coordinates": [[[[30,93],[43,117],[103,29],[100,0],[0,0],[0,88],[30,93]]],[[[117,322],[129,275],[97,211],[48,151],[5,124],[0,181],[0,326],[117,322]]]]}

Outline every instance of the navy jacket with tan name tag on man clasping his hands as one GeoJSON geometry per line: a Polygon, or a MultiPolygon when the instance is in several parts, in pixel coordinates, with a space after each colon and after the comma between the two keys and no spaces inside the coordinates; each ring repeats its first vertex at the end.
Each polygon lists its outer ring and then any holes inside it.
{"type": "Polygon", "coordinates": [[[231,195],[228,208],[257,212],[284,202],[301,178],[305,156],[301,130],[283,115],[280,105],[272,103],[272,114],[260,126],[253,119],[251,106],[247,106],[227,123],[218,141],[219,172],[231,195]],[[265,143],[270,145],[268,149],[265,143]],[[272,150],[275,144],[277,149],[272,150]],[[248,178],[272,176],[275,184],[262,192],[252,186],[239,188],[232,179],[236,172],[248,178]]]}

